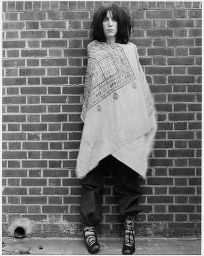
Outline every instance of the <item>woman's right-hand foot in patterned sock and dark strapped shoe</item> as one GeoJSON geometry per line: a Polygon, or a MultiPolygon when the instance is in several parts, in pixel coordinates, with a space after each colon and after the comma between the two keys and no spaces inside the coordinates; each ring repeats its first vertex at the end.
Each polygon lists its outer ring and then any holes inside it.
{"type": "Polygon", "coordinates": [[[125,218],[125,239],[122,248],[122,254],[133,254],[135,251],[134,240],[134,218],[127,216],[125,218]]]}

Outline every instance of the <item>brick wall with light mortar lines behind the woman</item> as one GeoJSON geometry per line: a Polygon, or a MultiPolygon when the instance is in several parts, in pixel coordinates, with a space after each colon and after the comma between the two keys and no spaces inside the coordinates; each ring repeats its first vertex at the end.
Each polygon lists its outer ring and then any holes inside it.
{"type": "MultiPolygon", "coordinates": [[[[119,3],[119,2],[118,2],[119,3]]],[[[2,222],[34,221],[34,236],[77,236],[86,46],[101,2],[3,2],[2,222]]],[[[201,2],[122,2],[154,93],[158,132],[141,180],[137,235],[197,234],[201,175],[201,2]]],[[[103,234],[122,232],[112,174],[103,234]]]]}

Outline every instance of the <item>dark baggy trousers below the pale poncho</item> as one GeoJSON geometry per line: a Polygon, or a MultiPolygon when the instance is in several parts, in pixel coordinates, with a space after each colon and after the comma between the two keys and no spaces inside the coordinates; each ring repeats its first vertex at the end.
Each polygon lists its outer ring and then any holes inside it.
{"type": "Polygon", "coordinates": [[[122,216],[135,216],[139,213],[137,203],[139,190],[139,174],[118,159],[109,155],[102,159],[98,166],[89,171],[82,181],[81,216],[84,225],[95,226],[101,220],[101,194],[103,192],[103,176],[106,170],[113,170],[115,183],[113,192],[118,195],[119,211],[122,216]]]}

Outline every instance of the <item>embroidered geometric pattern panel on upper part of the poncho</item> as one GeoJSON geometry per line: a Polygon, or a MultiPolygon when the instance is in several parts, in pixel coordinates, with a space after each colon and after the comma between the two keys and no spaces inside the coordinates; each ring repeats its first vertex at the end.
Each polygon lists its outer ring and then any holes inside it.
{"type": "Polygon", "coordinates": [[[90,51],[85,81],[90,88],[87,110],[135,79],[127,56],[119,45],[98,44],[90,51]]]}

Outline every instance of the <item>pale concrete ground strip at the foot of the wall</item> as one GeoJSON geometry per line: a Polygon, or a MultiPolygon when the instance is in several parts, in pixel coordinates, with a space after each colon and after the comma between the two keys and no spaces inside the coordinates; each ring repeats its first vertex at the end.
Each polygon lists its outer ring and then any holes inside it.
{"type": "MultiPolygon", "coordinates": [[[[15,239],[12,237],[3,237],[2,254],[26,254],[29,248],[29,254],[45,254],[45,255],[71,255],[71,254],[89,254],[86,251],[85,244],[79,238],[38,238],[26,237],[24,239],[15,239]],[[40,247],[41,246],[41,247],[40,247]],[[41,249],[39,249],[41,248],[41,249]],[[22,252],[24,253],[22,253],[22,252]]],[[[98,254],[120,255],[123,239],[109,238],[104,239],[98,237],[101,249],[98,254]]],[[[27,253],[28,254],[28,253],[27,253]]],[[[201,254],[201,238],[200,237],[136,237],[136,251],[134,254],[201,254]]]]}

